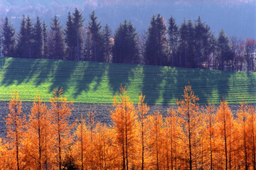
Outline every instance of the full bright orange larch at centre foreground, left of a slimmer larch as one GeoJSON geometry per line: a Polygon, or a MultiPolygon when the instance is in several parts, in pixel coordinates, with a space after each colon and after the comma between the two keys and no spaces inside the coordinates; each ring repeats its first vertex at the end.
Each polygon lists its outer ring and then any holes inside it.
{"type": "Polygon", "coordinates": [[[128,170],[129,166],[133,166],[134,161],[137,110],[129,100],[125,87],[121,86],[120,94],[114,96],[113,106],[114,111],[110,111],[110,117],[116,134],[114,140],[117,146],[116,151],[122,158],[120,160],[122,169],[128,170]]]}

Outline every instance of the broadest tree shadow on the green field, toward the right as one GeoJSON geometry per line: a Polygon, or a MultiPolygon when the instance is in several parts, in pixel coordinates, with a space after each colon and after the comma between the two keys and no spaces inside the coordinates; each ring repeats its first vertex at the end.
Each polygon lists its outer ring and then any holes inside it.
{"type": "Polygon", "coordinates": [[[208,104],[213,101],[220,101],[228,96],[228,79],[230,74],[207,69],[186,69],[186,68],[166,68],[164,81],[164,104],[176,103],[183,99],[183,91],[188,84],[192,91],[198,96],[200,104],[208,104]],[[217,95],[213,93],[217,91],[217,95]]]}

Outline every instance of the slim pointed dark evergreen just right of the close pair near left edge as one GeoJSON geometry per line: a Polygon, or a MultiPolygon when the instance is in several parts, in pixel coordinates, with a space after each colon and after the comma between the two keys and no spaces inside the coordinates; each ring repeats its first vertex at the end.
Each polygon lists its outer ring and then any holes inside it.
{"type": "Polygon", "coordinates": [[[43,28],[39,17],[36,18],[35,26],[33,27],[33,58],[42,58],[43,56],[43,28]]]}

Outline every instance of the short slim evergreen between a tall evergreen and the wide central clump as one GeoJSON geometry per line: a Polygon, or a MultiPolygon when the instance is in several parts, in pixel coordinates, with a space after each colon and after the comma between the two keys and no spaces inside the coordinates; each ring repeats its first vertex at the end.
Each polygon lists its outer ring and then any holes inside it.
{"type": "Polygon", "coordinates": [[[110,62],[110,58],[112,55],[112,42],[110,40],[111,36],[111,30],[109,26],[105,26],[103,32],[103,55],[104,55],[104,61],[110,62]]]}

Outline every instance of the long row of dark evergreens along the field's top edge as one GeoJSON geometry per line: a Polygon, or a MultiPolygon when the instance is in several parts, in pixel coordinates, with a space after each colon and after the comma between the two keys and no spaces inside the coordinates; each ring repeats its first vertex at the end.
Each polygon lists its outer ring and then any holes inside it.
{"type": "Polygon", "coordinates": [[[255,71],[256,41],[228,38],[220,30],[218,38],[198,17],[184,19],[177,26],[171,16],[166,22],[152,16],[146,33],[138,35],[132,23],[121,23],[114,35],[109,26],[102,28],[95,12],[85,24],[81,11],[68,13],[64,27],[54,17],[47,28],[40,18],[36,23],[23,16],[20,30],[5,18],[2,32],[4,57],[47,58],[61,60],[140,63],[232,71],[255,71]]]}

